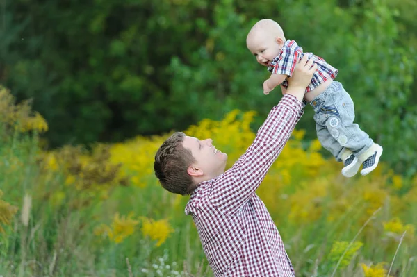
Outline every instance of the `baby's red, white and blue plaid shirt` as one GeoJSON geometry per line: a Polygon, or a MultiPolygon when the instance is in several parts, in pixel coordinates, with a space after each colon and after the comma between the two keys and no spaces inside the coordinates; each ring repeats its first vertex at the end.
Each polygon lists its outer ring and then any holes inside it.
{"type": "MultiPolygon", "coordinates": [[[[313,62],[318,65],[318,69],[314,72],[311,83],[306,88],[306,92],[311,92],[311,90],[318,87],[321,83],[325,83],[328,78],[332,78],[332,80],[336,78],[338,69],[329,65],[319,56],[313,55],[313,53],[305,54],[309,55],[309,58],[313,58],[313,62]]],[[[281,48],[279,55],[272,60],[270,66],[268,67],[268,71],[272,72],[272,74],[285,74],[292,76],[296,62],[298,62],[303,56],[304,53],[302,52],[302,48],[298,46],[297,42],[294,40],[287,40],[284,43],[284,47],[281,48]]],[[[281,85],[287,88],[288,81],[284,80],[281,85]]]]}

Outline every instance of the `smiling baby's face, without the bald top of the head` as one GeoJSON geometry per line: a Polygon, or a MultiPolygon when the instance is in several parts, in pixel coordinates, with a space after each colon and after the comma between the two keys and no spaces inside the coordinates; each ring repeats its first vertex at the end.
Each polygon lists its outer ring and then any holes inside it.
{"type": "Polygon", "coordinates": [[[246,40],[247,49],[254,54],[256,61],[265,67],[268,67],[273,58],[278,56],[282,44],[281,39],[277,40],[262,31],[250,33],[246,40]]]}

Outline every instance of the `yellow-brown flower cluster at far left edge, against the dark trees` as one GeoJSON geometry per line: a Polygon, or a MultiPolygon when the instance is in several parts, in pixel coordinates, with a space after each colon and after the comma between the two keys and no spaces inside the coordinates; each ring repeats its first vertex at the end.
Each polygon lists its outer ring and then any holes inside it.
{"type": "Polygon", "coordinates": [[[23,101],[15,105],[15,97],[1,85],[0,123],[6,124],[6,128],[13,128],[20,132],[43,133],[48,130],[47,121],[38,112],[31,112],[31,101],[23,101]]]}

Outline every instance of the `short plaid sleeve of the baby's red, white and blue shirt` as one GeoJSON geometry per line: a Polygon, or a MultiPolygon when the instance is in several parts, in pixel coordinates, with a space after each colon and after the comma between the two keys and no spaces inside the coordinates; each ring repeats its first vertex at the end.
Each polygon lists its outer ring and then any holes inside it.
{"type": "Polygon", "coordinates": [[[281,49],[280,55],[272,60],[269,71],[273,74],[292,76],[298,60],[300,60],[300,51],[284,47],[281,49]]]}

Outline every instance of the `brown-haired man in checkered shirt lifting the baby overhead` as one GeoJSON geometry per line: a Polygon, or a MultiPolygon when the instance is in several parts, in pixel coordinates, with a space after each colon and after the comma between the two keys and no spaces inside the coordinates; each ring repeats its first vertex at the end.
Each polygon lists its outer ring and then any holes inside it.
{"type": "Polygon", "coordinates": [[[303,114],[306,87],[317,66],[306,55],[288,79],[288,89],[247,151],[224,172],[227,154],[211,139],[174,133],[155,156],[161,185],[190,194],[186,214],[197,226],[215,276],[295,276],[281,236],[255,194],[303,114]]]}

